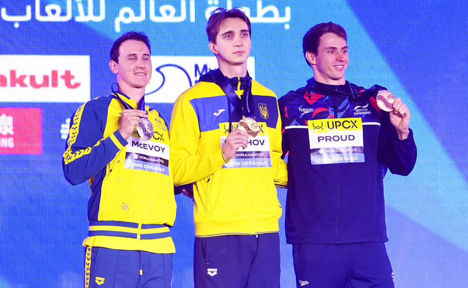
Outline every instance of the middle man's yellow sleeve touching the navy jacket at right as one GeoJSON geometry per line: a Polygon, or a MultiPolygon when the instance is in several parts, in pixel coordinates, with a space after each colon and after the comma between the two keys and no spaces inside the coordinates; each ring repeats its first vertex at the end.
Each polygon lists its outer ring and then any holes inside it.
{"type": "Polygon", "coordinates": [[[272,135],[272,166],[273,166],[273,180],[276,187],[286,188],[288,185],[288,168],[286,162],[284,162],[282,152],[282,133],[281,133],[281,116],[278,109],[278,122],[272,135]]]}

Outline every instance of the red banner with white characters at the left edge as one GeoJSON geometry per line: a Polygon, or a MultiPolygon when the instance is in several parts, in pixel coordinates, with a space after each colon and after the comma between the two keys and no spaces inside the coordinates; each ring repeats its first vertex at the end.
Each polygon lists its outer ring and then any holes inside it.
{"type": "Polygon", "coordinates": [[[42,111],[0,108],[0,154],[42,153],[42,111]]]}

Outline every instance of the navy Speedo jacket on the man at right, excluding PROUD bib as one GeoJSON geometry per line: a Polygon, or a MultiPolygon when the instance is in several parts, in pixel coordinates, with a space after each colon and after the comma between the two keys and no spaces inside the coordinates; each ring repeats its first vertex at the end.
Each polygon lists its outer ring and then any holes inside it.
{"type": "Polygon", "coordinates": [[[379,89],[384,87],[365,91],[350,82],[333,87],[311,78],[279,99],[283,157],[289,152],[289,244],[388,241],[383,176],[387,167],[408,175],[417,152],[412,131],[407,139],[398,139],[389,113],[378,108],[379,89]],[[332,118],[362,119],[364,162],[311,164],[307,122],[332,118]]]}

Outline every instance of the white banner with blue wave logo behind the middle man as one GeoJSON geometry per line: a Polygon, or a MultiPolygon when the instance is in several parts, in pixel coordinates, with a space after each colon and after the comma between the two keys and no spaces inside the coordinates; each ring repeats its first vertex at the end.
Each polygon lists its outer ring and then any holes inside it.
{"type": "MultiPolygon", "coordinates": [[[[200,76],[218,67],[212,57],[152,56],[153,74],[146,86],[146,103],[174,103],[182,92],[195,85],[200,76]]],[[[255,79],[255,60],[247,60],[249,75],[255,79]]]]}

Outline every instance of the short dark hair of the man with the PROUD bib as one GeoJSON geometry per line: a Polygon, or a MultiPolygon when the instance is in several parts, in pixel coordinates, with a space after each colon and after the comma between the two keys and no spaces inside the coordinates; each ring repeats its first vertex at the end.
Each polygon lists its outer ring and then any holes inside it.
{"type": "MultiPolygon", "coordinates": [[[[312,52],[313,54],[317,54],[318,45],[320,44],[320,37],[322,37],[325,33],[334,33],[338,37],[343,38],[345,41],[347,39],[346,31],[338,24],[333,22],[328,23],[320,23],[313,26],[309,31],[307,31],[304,38],[302,38],[302,50],[304,52],[304,57],[306,57],[306,52],[312,52]]],[[[309,66],[311,63],[307,61],[309,66]]]]}

